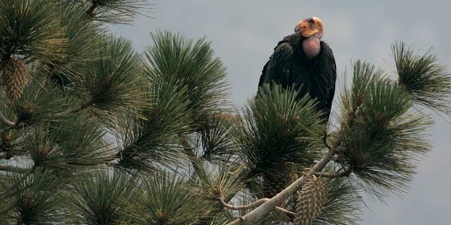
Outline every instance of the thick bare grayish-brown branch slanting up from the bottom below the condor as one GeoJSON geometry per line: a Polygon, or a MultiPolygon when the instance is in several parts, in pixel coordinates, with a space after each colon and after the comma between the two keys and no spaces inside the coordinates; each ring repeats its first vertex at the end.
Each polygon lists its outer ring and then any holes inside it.
{"type": "Polygon", "coordinates": [[[321,171],[326,167],[328,162],[333,158],[333,151],[329,150],[326,155],[319,160],[314,167],[312,167],[307,174],[304,176],[301,176],[299,179],[297,179],[294,183],[290,184],[287,188],[285,188],[283,191],[278,193],[276,196],[271,198],[270,200],[266,201],[266,203],[261,204],[256,209],[252,210],[251,212],[248,212],[244,216],[235,219],[234,221],[226,224],[226,225],[238,225],[238,224],[253,224],[258,219],[264,217],[265,214],[268,214],[273,209],[275,209],[278,205],[283,203],[284,200],[288,199],[291,195],[295,194],[297,190],[302,188],[302,185],[305,181],[310,179],[310,177],[318,171],[321,171]]]}

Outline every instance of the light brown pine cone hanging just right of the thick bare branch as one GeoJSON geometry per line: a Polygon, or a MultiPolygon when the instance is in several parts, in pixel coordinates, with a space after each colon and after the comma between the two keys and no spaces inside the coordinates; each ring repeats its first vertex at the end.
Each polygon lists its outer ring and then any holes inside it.
{"type": "Polygon", "coordinates": [[[324,203],[326,203],[326,188],[321,178],[313,176],[306,181],[302,190],[297,192],[295,225],[308,225],[314,220],[324,203]]]}

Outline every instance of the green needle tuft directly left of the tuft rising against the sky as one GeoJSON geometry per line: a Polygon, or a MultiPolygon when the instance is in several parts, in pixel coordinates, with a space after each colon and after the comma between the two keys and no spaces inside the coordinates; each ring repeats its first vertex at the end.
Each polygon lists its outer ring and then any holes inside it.
{"type": "Polygon", "coordinates": [[[94,54],[86,65],[85,76],[75,81],[81,108],[91,106],[98,115],[121,115],[130,113],[130,108],[137,112],[146,108],[141,60],[130,41],[104,37],[97,44],[99,55],[94,54]]]}

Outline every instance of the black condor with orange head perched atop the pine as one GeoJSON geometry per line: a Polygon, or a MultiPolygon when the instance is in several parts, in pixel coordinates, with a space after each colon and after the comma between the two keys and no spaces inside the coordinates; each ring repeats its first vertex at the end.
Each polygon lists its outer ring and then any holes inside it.
{"type": "Polygon", "coordinates": [[[299,90],[299,99],[306,94],[316,98],[316,108],[328,120],[337,72],[332,50],[321,41],[323,34],[320,18],[311,17],[297,23],[295,34],[279,41],[264,65],[259,87],[266,83],[280,84],[283,88],[294,86],[299,90]]]}

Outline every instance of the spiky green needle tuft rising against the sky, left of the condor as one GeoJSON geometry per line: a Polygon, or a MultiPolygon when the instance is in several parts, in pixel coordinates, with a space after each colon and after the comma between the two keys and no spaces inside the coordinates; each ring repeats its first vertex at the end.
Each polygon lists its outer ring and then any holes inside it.
{"type": "Polygon", "coordinates": [[[151,82],[180,82],[190,96],[194,122],[223,108],[228,96],[226,68],[205,39],[194,41],[180,34],[154,32],[147,48],[147,75],[151,82]]]}

